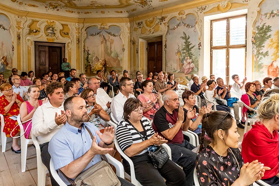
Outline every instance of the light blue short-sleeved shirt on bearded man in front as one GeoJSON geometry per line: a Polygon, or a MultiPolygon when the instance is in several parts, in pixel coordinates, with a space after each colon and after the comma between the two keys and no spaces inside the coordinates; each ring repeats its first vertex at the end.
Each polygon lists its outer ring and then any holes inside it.
{"type": "MultiPolygon", "coordinates": [[[[83,123],[82,129],[79,129],[66,122],[66,124],[51,138],[48,145],[48,152],[51,155],[55,170],[68,165],[83,156],[90,149],[93,140],[86,130],[85,125],[91,131],[92,135],[97,137],[97,144],[100,143],[101,139],[96,134],[96,131],[99,130],[95,125],[86,122],[83,123]]],[[[99,154],[95,155],[82,172],[100,161],[101,156],[99,154]]],[[[59,174],[59,176],[65,184],[70,184],[63,175],[59,174]]]]}

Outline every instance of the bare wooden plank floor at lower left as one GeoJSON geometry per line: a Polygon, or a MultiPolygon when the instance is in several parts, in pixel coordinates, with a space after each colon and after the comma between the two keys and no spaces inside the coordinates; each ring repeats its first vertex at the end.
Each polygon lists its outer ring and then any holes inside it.
{"type": "MultiPolygon", "coordinates": [[[[12,152],[11,145],[12,139],[8,138],[6,152],[2,153],[2,150],[0,151],[0,186],[37,186],[38,176],[35,148],[32,145],[28,145],[26,171],[21,172],[21,154],[12,152]]],[[[46,185],[51,186],[49,177],[46,177],[46,185]]]]}

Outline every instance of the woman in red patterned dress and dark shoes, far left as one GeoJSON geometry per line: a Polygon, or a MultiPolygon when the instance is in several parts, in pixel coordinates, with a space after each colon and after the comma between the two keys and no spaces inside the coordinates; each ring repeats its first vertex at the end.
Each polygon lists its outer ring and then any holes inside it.
{"type": "MultiPolygon", "coordinates": [[[[17,116],[19,114],[19,108],[23,102],[19,94],[13,91],[13,88],[8,83],[3,83],[0,86],[0,91],[3,95],[0,97],[0,114],[4,116],[5,126],[3,132],[5,132],[6,137],[11,137],[11,135],[18,136],[20,132],[20,127],[17,126],[17,121],[10,118],[10,116],[17,116]],[[11,131],[16,127],[16,129],[11,133],[11,131]]],[[[18,138],[13,138],[13,144],[11,150],[15,153],[21,153],[21,149],[18,145],[18,138]]]]}

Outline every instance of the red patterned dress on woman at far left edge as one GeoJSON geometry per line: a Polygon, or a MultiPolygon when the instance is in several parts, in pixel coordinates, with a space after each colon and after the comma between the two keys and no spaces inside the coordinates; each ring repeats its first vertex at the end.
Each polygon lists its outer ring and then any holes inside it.
{"type": "MultiPolygon", "coordinates": [[[[16,95],[17,99],[20,100],[21,102],[23,102],[22,98],[20,97],[19,94],[16,95]]],[[[19,115],[19,107],[17,106],[16,103],[14,103],[11,106],[11,109],[8,111],[8,113],[5,113],[5,107],[10,104],[10,102],[6,99],[5,95],[2,95],[0,97],[0,114],[2,114],[4,116],[4,121],[5,121],[5,125],[4,125],[4,129],[3,132],[6,133],[7,137],[11,137],[11,131],[15,128],[15,126],[17,126],[17,121],[13,120],[10,118],[10,116],[18,116],[19,115]]],[[[12,136],[15,136],[17,133],[20,132],[20,127],[17,126],[16,129],[12,132],[12,136]]]]}

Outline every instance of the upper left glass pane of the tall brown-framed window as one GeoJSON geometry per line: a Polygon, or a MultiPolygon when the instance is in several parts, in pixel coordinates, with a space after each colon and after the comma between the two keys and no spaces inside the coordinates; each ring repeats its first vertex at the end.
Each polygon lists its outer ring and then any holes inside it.
{"type": "Polygon", "coordinates": [[[213,22],[212,26],[212,46],[225,46],[226,45],[226,26],[227,21],[217,21],[213,22]]]}

